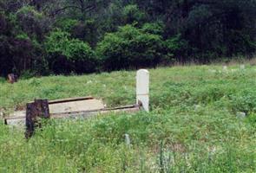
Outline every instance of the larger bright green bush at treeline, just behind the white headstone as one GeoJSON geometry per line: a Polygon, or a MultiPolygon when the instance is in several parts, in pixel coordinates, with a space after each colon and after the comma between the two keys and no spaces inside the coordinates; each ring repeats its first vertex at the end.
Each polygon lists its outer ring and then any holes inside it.
{"type": "Polygon", "coordinates": [[[106,70],[131,67],[153,67],[161,62],[161,35],[149,34],[131,25],[107,34],[99,43],[97,53],[106,70]]]}

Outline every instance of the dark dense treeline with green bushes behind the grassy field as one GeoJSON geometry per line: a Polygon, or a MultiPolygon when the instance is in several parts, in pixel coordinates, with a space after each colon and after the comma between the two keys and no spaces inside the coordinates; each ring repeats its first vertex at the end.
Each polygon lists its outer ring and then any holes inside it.
{"type": "Polygon", "coordinates": [[[256,0],[0,0],[0,75],[250,58],[256,0]]]}

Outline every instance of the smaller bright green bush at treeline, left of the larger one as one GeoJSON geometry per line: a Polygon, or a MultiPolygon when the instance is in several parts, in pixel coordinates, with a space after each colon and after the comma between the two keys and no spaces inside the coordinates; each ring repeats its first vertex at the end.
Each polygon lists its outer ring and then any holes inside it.
{"type": "Polygon", "coordinates": [[[50,33],[45,42],[45,49],[49,67],[57,74],[95,72],[95,52],[86,42],[71,39],[69,33],[61,30],[50,33]]]}

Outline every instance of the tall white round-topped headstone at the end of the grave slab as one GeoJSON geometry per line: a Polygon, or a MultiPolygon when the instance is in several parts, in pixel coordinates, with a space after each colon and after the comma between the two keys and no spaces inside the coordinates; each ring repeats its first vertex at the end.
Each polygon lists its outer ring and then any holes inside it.
{"type": "Polygon", "coordinates": [[[141,102],[144,110],[149,112],[149,72],[141,69],[136,76],[136,103],[141,102]]]}

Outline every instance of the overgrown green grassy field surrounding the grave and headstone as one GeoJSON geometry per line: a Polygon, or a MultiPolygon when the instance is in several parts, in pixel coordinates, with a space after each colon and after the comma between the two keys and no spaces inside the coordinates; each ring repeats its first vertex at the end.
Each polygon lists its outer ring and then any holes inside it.
{"type": "MultiPolygon", "coordinates": [[[[150,77],[150,113],[50,121],[29,141],[0,124],[0,172],[256,172],[256,67],[159,68],[150,77]]],[[[0,82],[4,112],[34,98],[135,102],[135,72],[0,82]]]]}

